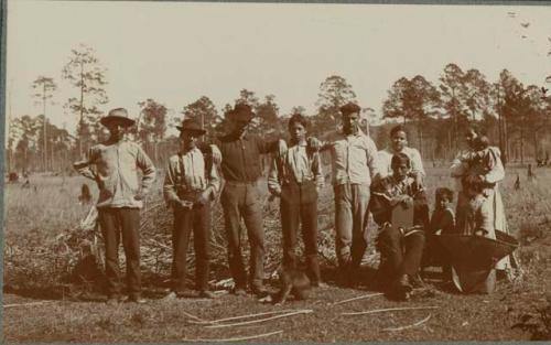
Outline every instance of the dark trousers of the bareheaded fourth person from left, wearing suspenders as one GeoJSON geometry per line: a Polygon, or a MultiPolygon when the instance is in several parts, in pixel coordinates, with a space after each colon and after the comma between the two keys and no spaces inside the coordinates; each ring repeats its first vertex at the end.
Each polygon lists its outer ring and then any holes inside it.
{"type": "Polygon", "coordinates": [[[320,282],[317,259],[317,193],[314,183],[287,184],[281,190],[281,227],[283,231],[283,267],[296,268],[296,237],[302,223],[302,239],[306,255],[306,273],[320,282]]]}

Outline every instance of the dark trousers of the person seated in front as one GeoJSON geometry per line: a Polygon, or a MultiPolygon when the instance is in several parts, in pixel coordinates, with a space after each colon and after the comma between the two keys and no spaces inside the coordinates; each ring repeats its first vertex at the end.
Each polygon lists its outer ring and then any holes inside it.
{"type": "Polygon", "coordinates": [[[413,230],[403,235],[400,229],[388,226],[378,238],[381,252],[379,273],[383,279],[397,279],[403,274],[418,273],[424,248],[424,231],[413,230]]]}

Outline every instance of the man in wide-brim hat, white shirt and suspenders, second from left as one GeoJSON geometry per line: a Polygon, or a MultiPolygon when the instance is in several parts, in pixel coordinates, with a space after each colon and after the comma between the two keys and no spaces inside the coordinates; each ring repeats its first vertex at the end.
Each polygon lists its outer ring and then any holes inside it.
{"type": "Polygon", "coordinates": [[[164,198],[174,213],[172,231],[173,262],[172,292],[169,299],[185,297],[187,246],[193,231],[195,249],[195,285],[202,298],[214,298],[208,291],[208,239],[210,233],[210,202],[220,188],[220,179],[214,164],[207,164],[197,148],[205,134],[201,125],[186,119],[180,130],[180,151],[169,159],[164,177],[164,198]]]}

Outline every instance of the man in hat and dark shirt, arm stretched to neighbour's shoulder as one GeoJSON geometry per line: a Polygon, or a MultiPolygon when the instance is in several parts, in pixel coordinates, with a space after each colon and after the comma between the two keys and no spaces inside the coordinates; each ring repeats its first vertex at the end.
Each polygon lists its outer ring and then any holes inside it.
{"type": "Polygon", "coordinates": [[[264,229],[262,225],[262,176],[261,154],[276,150],[283,152],[283,140],[268,142],[248,132],[255,112],[246,104],[237,104],[227,115],[229,133],[218,138],[222,151],[222,172],[226,184],[220,202],[224,208],[225,228],[228,237],[229,270],[235,281],[235,294],[245,295],[247,283],[258,297],[266,295],[263,285],[264,229]],[[240,220],[245,220],[250,244],[250,270],[247,279],[241,255],[240,220]]]}

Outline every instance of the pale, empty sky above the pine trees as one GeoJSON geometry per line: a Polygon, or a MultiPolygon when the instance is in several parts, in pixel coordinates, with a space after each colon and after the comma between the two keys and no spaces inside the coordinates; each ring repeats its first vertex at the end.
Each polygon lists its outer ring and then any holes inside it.
{"type": "Polygon", "coordinates": [[[7,114],[40,114],[31,84],[50,76],[60,88],[48,117],[73,130],[76,117],[62,106],[78,91],[61,71],[79,43],[107,68],[104,111],[137,115],[137,103],[153,98],[179,112],[203,95],[223,107],[242,88],[276,95],[281,114],[294,106],[313,111],[320,84],[337,74],[360,106],[380,114],[398,78],[421,74],[437,83],[452,62],[490,82],[507,68],[525,84],[543,85],[550,36],[545,6],[10,0],[7,114]]]}

